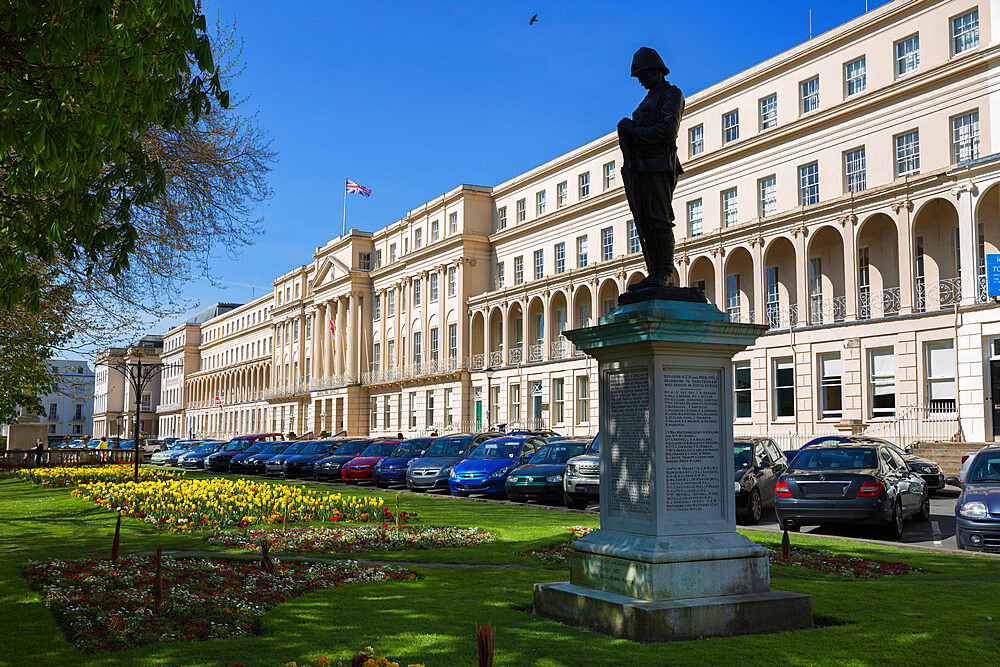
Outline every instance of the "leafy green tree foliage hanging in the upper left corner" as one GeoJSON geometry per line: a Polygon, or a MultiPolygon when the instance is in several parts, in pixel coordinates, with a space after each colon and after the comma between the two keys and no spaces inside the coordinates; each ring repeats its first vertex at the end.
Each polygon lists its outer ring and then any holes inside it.
{"type": "Polygon", "coordinates": [[[0,11],[0,308],[37,309],[36,261],[129,267],[162,194],[150,131],[229,95],[196,0],[7,0],[0,11]]]}

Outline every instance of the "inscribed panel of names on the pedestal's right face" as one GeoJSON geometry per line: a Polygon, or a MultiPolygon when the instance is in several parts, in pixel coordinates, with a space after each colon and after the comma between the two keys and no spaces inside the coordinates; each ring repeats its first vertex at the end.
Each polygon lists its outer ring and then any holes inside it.
{"type": "Polygon", "coordinates": [[[666,509],[673,521],[721,517],[721,399],[716,371],[663,373],[666,509]]]}

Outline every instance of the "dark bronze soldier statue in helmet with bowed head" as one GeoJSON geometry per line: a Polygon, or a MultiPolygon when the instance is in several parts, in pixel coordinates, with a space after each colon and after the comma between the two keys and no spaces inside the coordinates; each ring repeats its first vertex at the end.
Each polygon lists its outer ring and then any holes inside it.
{"type": "Polygon", "coordinates": [[[619,303],[646,299],[705,301],[697,290],[673,286],[674,210],[677,179],[684,170],[677,158],[677,130],[684,95],[666,80],[670,73],[659,54],[641,47],[632,58],[632,76],[649,92],[632,113],[618,122],[624,158],[621,174],[635,221],[647,276],[622,294],[619,303]]]}

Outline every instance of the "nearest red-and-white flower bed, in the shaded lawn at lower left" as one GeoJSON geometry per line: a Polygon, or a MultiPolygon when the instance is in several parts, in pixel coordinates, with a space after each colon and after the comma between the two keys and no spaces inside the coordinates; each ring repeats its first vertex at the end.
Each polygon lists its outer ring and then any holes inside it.
{"type": "Polygon", "coordinates": [[[153,561],[29,561],[24,574],[70,641],[88,652],[251,634],[269,607],[309,591],[419,578],[350,561],[276,562],[277,575],[268,575],[255,561],[164,557],[163,605],[154,614],[153,561]]]}

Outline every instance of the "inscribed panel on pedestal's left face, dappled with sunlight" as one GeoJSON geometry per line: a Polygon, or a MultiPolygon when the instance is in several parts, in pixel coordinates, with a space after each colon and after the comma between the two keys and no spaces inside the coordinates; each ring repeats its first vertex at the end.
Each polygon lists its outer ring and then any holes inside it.
{"type": "Polygon", "coordinates": [[[648,515],[653,478],[649,372],[610,373],[607,378],[610,508],[612,512],[648,515]]]}

